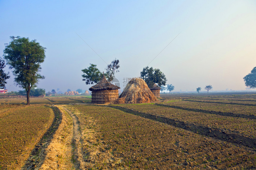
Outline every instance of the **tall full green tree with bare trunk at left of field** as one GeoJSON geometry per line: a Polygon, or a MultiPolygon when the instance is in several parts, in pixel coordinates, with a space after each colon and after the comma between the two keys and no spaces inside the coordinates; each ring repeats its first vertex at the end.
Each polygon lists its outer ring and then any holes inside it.
{"type": "Polygon", "coordinates": [[[5,44],[4,59],[12,69],[15,76],[14,81],[20,88],[26,90],[27,105],[30,104],[29,93],[35,88],[40,79],[45,77],[39,74],[42,69],[40,64],[45,59],[45,49],[36,40],[29,38],[11,36],[9,44],[5,44]]]}

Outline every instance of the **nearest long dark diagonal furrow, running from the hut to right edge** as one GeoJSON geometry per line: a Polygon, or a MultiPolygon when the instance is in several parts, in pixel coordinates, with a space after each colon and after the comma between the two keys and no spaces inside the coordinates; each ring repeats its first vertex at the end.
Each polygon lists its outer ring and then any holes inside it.
{"type": "Polygon", "coordinates": [[[121,110],[123,112],[145,117],[147,119],[155,120],[161,123],[166,123],[168,125],[172,125],[177,128],[183,128],[187,131],[191,131],[193,133],[197,133],[203,136],[211,137],[214,139],[218,139],[221,141],[237,144],[237,145],[242,145],[245,147],[251,148],[253,151],[256,151],[256,139],[248,137],[248,136],[241,136],[238,134],[231,134],[231,133],[226,133],[225,131],[222,131],[221,129],[218,128],[208,128],[205,126],[200,126],[200,125],[195,125],[195,124],[190,124],[190,123],[185,123],[183,121],[175,120],[175,119],[170,119],[167,117],[161,117],[161,116],[156,116],[156,115],[151,115],[149,113],[143,113],[139,111],[135,111],[132,109],[127,109],[124,107],[119,107],[119,106],[113,106],[113,105],[106,105],[104,107],[111,107],[114,109],[121,110]],[[211,132],[210,132],[211,131],[211,132]]]}

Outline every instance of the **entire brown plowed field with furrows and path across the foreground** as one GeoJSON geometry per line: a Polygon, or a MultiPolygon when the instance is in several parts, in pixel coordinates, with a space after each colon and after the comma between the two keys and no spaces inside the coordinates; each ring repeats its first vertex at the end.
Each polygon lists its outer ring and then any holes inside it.
{"type": "Polygon", "coordinates": [[[90,100],[0,99],[0,169],[256,169],[255,94],[90,100]]]}

